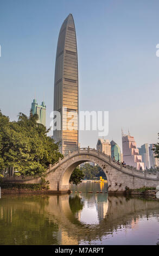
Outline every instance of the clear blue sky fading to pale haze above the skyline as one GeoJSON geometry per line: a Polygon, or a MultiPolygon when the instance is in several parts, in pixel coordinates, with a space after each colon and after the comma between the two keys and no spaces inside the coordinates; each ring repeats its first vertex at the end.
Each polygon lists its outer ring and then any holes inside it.
{"type": "MultiPolygon", "coordinates": [[[[137,146],[159,132],[159,2],[157,0],[0,0],[0,109],[10,120],[29,115],[36,94],[53,110],[54,69],[63,20],[73,14],[78,44],[79,110],[109,111],[109,135],[121,129],[137,146]]],[[[80,131],[96,148],[98,132],[80,131]]]]}

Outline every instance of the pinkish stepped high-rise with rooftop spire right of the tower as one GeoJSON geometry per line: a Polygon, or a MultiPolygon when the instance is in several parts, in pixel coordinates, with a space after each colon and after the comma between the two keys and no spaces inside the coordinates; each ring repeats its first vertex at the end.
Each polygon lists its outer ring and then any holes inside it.
{"type": "Polygon", "coordinates": [[[144,170],[144,163],[142,162],[142,156],[139,155],[139,151],[136,147],[134,137],[130,135],[124,135],[122,133],[122,146],[123,146],[123,161],[129,165],[136,167],[138,170],[144,170]]]}

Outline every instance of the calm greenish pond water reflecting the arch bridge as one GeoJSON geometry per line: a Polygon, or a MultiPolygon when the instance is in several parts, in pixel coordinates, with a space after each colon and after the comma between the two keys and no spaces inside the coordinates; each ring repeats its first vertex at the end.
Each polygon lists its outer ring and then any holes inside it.
{"type": "Polygon", "coordinates": [[[106,184],[91,182],[71,189],[61,196],[2,195],[0,245],[159,244],[159,200],[108,197],[106,184]]]}

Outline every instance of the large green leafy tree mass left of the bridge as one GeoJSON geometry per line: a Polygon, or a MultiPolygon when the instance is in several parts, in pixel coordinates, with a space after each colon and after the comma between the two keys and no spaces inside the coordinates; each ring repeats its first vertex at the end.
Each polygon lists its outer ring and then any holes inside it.
{"type": "Polygon", "coordinates": [[[37,123],[38,115],[18,115],[10,121],[0,111],[0,170],[14,168],[24,176],[42,176],[62,155],[47,136],[49,129],[37,123]]]}

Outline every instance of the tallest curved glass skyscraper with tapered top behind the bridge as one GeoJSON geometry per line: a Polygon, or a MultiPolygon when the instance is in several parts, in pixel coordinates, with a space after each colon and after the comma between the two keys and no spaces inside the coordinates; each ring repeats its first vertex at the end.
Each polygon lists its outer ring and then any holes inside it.
{"type": "Polygon", "coordinates": [[[62,23],[56,51],[54,111],[61,114],[61,130],[53,138],[63,155],[78,148],[78,55],[72,14],[62,23]],[[74,112],[73,129],[71,115],[74,112]]]}

